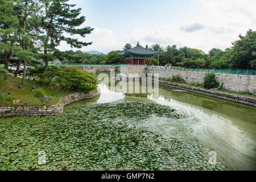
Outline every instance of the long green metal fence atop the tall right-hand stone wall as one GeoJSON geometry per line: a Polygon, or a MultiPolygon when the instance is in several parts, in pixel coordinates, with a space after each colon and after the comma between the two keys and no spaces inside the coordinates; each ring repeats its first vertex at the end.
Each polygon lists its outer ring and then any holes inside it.
{"type": "Polygon", "coordinates": [[[216,68],[183,68],[183,67],[159,67],[147,65],[147,68],[166,71],[192,71],[192,72],[211,72],[225,73],[234,75],[256,75],[256,69],[216,69],[216,68]]]}

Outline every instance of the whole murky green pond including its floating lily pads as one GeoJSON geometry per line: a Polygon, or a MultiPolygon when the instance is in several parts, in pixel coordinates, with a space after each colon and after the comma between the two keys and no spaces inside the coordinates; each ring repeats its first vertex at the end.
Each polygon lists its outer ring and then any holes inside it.
{"type": "Polygon", "coordinates": [[[61,115],[1,118],[0,170],[255,170],[255,107],[98,86],[61,115]]]}

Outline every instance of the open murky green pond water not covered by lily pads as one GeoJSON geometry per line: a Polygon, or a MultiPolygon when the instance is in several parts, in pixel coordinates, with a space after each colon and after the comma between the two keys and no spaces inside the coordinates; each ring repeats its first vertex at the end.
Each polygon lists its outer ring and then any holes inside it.
{"type": "Polygon", "coordinates": [[[227,170],[256,169],[256,108],[159,86],[159,95],[124,94],[99,85],[100,97],[88,102],[155,102],[185,111],[188,117],[167,119],[152,115],[143,127],[170,137],[193,139],[217,153],[227,170]]]}

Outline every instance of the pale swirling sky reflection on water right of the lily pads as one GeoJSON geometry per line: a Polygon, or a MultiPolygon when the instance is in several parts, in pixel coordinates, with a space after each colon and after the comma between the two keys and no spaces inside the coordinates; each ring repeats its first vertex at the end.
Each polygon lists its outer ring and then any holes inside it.
{"type": "MultiPolygon", "coordinates": [[[[148,96],[161,105],[172,106],[177,110],[187,111],[186,119],[150,119],[146,126],[171,137],[185,137],[199,140],[205,146],[217,152],[217,158],[228,169],[255,169],[255,133],[246,132],[247,127],[234,125],[236,118],[201,106],[190,105],[164,96],[148,96]]],[[[243,121],[240,121],[243,122],[243,121]]]]}

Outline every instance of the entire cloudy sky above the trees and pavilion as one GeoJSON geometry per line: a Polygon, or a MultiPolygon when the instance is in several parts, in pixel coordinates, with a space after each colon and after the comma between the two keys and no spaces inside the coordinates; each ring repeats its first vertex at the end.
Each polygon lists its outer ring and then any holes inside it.
{"type": "MultiPolygon", "coordinates": [[[[126,43],[141,46],[155,43],[203,50],[231,47],[238,35],[256,30],[255,0],[71,0],[86,16],[82,27],[94,31],[81,51],[108,53],[126,43]]],[[[71,49],[65,43],[61,51],[71,49]]],[[[74,51],[77,49],[73,49],[74,51]]]]}

